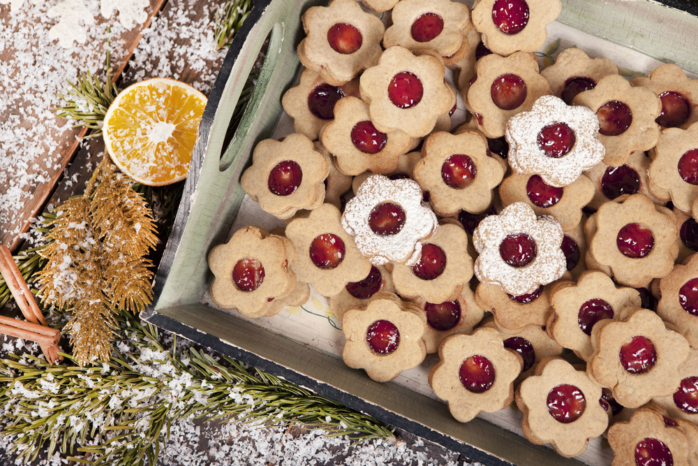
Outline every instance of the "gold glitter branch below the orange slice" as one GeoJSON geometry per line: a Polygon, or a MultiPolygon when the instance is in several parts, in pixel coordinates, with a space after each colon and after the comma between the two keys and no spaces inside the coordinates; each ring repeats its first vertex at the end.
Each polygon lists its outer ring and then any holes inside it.
{"type": "Polygon", "coordinates": [[[64,330],[81,365],[108,361],[114,339],[114,312],[140,312],[153,290],[146,259],[158,239],[147,203],[133,182],[105,156],[82,196],[58,207],[40,272],[44,305],[71,311],[64,330]]]}

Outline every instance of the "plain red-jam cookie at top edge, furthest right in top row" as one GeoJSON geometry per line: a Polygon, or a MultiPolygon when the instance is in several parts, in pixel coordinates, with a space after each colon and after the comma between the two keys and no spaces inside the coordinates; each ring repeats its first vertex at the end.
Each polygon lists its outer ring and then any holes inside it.
{"type": "Polygon", "coordinates": [[[547,38],[545,27],[562,11],[560,0],[477,0],[473,24],[492,52],[535,52],[547,38]]]}

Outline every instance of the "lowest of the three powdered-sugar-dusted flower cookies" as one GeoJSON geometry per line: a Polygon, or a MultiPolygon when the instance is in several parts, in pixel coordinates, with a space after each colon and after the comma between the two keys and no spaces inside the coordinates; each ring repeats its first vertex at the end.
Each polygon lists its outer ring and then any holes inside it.
{"type": "Polygon", "coordinates": [[[565,272],[562,241],[563,230],[558,222],[550,217],[538,219],[524,203],[509,205],[475,228],[473,245],[480,253],[475,276],[485,284],[500,285],[514,296],[533,293],[565,272]]]}

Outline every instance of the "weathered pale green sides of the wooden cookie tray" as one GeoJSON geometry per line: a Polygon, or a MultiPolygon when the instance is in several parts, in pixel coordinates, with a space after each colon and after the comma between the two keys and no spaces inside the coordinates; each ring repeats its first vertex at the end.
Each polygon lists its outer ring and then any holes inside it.
{"type": "MultiPolygon", "coordinates": [[[[142,318],[442,444],[473,461],[487,465],[581,464],[482,419],[459,423],[443,403],[394,383],[374,382],[363,371],[346,367],[324,351],[205,304],[212,280],[207,254],[229,237],[244,199],[239,185],[242,170],[253,147],[272,136],[282,113],[281,96],[299,68],[295,48],[304,36],[300,15],[322,3],[258,0],[237,34],[202,117],[184,196],[156,275],[155,303],[142,313],[142,318]],[[255,92],[239,128],[224,147],[235,103],[267,36],[267,57],[255,92]]],[[[671,4],[683,11],[644,1],[563,0],[558,24],[573,28],[570,30],[575,31],[576,38],[602,38],[609,50],[628,45],[648,57],[674,62],[695,73],[698,17],[687,12],[698,11],[688,1],[673,0],[671,4]],[[692,50],[687,52],[690,44],[692,50]]],[[[623,52],[616,50],[618,53],[623,52]]],[[[605,55],[603,51],[599,54],[605,55]]],[[[621,66],[637,69],[632,66],[632,57],[629,60],[621,66]]]]}

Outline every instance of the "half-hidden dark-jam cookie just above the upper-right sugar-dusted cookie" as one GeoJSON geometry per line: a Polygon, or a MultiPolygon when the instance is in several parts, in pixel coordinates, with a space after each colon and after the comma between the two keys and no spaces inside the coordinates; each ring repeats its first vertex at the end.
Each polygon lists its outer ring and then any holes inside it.
{"type": "Polygon", "coordinates": [[[568,48],[560,52],[554,65],[547,66],[540,74],[548,80],[553,95],[570,105],[574,96],[593,89],[601,78],[620,71],[607,58],[589,58],[578,48],[568,48]]]}

